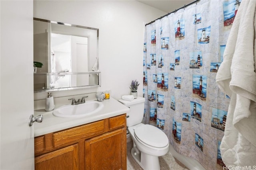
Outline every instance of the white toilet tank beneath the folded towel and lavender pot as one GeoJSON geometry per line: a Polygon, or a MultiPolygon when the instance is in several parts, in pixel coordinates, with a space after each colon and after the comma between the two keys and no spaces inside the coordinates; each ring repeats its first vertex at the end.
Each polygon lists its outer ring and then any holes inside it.
{"type": "Polygon", "coordinates": [[[142,98],[138,96],[136,99],[132,101],[128,100],[118,100],[125,106],[130,108],[130,111],[126,113],[126,126],[130,127],[133,125],[137,125],[142,122],[142,119],[144,117],[144,103],[145,103],[145,98],[142,98]]]}

